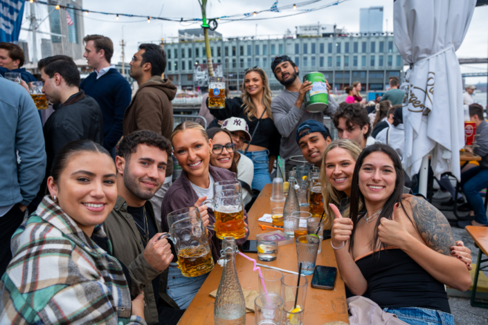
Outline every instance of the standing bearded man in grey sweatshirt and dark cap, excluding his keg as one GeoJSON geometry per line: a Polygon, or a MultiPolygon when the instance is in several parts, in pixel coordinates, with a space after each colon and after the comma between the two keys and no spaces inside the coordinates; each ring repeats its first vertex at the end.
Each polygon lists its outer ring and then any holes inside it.
{"type": "MultiPolygon", "coordinates": [[[[273,59],[271,70],[275,78],[284,86],[280,95],[273,98],[271,112],[276,129],[280,132],[280,156],[284,158],[286,170],[291,170],[297,162],[290,160],[291,156],[301,156],[302,151],[295,139],[298,125],[306,120],[316,120],[323,124],[324,114],[333,116],[338,104],[329,97],[327,110],[318,113],[305,111],[303,104],[305,93],[311,89],[311,82],[302,84],[298,78],[298,66],[287,55],[280,55],[273,59]]],[[[327,82],[327,81],[326,81],[327,82]]],[[[328,84],[327,84],[328,86],[328,84]]]]}

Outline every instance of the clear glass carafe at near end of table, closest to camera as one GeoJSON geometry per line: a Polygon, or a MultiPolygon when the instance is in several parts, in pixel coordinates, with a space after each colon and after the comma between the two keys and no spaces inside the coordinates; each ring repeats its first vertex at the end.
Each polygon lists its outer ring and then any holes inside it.
{"type": "Polygon", "coordinates": [[[213,317],[215,325],[245,325],[246,301],[235,269],[237,244],[233,237],[222,240],[222,259],[224,270],[215,296],[213,317]]]}

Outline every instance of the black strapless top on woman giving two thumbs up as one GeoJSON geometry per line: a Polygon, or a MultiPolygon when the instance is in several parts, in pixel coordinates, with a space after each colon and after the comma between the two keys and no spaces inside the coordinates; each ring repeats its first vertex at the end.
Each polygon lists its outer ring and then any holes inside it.
{"type": "Polygon", "coordinates": [[[368,281],[364,296],[381,308],[419,307],[451,313],[444,284],[403,250],[381,250],[362,257],[356,265],[368,281]]]}

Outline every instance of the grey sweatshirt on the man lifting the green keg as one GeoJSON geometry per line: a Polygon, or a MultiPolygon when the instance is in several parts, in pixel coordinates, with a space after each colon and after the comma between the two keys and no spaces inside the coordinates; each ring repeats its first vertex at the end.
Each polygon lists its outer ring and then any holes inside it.
{"type": "Polygon", "coordinates": [[[271,113],[273,113],[275,127],[282,136],[280,156],[284,158],[284,163],[287,165],[298,165],[298,163],[289,159],[291,156],[302,156],[302,151],[300,151],[300,147],[298,147],[295,140],[298,125],[306,120],[316,120],[317,122],[323,123],[324,113],[332,117],[338,107],[336,101],[332,97],[329,97],[329,108],[326,111],[307,113],[305,111],[305,104],[302,104],[301,109],[295,106],[297,98],[298,91],[287,91],[284,89],[271,102],[271,113]]]}

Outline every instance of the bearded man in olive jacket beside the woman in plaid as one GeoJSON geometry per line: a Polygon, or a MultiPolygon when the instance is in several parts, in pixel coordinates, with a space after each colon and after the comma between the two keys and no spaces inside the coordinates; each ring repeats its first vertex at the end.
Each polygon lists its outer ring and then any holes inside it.
{"type": "MultiPolygon", "coordinates": [[[[159,240],[161,226],[148,201],[163,185],[170,153],[171,142],[153,131],[136,131],[120,141],[118,198],[103,223],[114,257],[129,269],[132,298],[144,290],[147,324],[177,324],[184,311],[166,293],[173,254],[170,243],[159,240]]],[[[200,211],[208,219],[206,207],[200,211]]]]}

